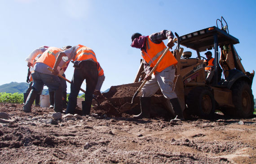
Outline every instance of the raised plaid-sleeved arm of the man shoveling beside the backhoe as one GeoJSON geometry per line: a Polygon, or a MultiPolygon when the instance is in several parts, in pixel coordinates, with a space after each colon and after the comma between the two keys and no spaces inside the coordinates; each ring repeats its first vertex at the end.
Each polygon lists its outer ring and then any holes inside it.
{"type": "Polygon", "coordinates": [[[163,40],[168,39],[167,46],[171,49],[172,49],[172,46],[174,46],[174,43],[172,42],[172,39],[174,38],[172,31],[164,29],[158,33],[151,34],[149,37],[150,37],[150,40],[156,44],[159,44],[163,40]]]}

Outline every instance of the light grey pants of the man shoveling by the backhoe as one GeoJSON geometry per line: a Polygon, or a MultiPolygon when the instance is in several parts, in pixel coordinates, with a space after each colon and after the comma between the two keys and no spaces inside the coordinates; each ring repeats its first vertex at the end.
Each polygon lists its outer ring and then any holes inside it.
{"type": "Polygon", "coordinates": [[[151,80],[147,81],[142,87],[142,97],[151,97],[160,88],[165,98],[173,99],[177,98],[176,93],[172,90],[173,80],[175,77],[175,66],[169,66],[161,72],[157,72],[156,75],[152,75],[151,80]]]}

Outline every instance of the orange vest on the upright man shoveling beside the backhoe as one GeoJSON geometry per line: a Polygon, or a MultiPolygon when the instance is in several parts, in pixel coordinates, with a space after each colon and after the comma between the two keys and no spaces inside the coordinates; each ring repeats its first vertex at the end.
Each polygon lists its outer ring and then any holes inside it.
{"type": "MultiPolygon", "coordinates": [[[[141,56],[145,61],[150,65],[150,67],[154,67],[158,60],[163,55],[163,52],[167,49],[163,42],[156,44],[153,43],[149,36],[146,37],[146,51],[141,51],[141,56]]],[[[165,68],[176,65],[178,62],[175,57],[172,55],[171,51],[168,51],[166,55],[163,57],[162,61],[156,67],[154,74],[156,71],[161,72],[165,68]]]]}

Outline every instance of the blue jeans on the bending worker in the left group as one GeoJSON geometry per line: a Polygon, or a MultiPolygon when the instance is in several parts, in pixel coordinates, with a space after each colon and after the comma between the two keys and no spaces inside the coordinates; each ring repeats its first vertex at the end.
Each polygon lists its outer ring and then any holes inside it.
{"type": "Polygon", "coordinates": [[[31,111],[32,103],[35,100],[35,94],[40,93],[45,84],[48,88],[51,88],[54,91],[54,111],[62,112],[62,87],[58,76],[44,74],[38,71],[32,73],[31,76],[33,78],[32,90],[23,106],[23,110],[26,112],[31,111]]]}

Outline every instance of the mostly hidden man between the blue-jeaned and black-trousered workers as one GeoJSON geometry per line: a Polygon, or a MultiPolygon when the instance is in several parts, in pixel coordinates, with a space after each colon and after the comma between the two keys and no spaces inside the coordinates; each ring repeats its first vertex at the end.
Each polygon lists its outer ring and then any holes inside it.
{"type": "MultiPolygon", "coordinates": [[[[69,48],[71,48],[72,46],[63,46],[62,47],[62,50],[67,50],[69,48]]],[[[66,63],[66,67],[64,68],[61,68],[61,71],[59,72],[60,75],[62,75],[63,77],[66,78],[66,75],[65,75],[65,71],[66,71],[66,68],[68,66],[69,62],[66,63]],[[62,74],[63,73],[63,74],[62,74]]],[[[66,101],[66,88],[67,88],[67,85],[66,85],[66,80],[60,78],[60,81],[61,81],[61,85],[62,85],[62,108],[63,109],[66,109],[67,107],[67,101],[66,101]]],[[[54,91],[51,89],[51,88],[48,88],[48,91],[49,91],[49,98],[50,98],[50,108],[53,109],[54,107],[54,91]]]]}

